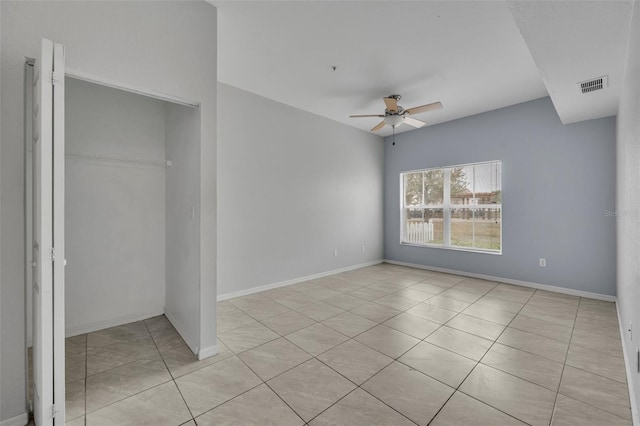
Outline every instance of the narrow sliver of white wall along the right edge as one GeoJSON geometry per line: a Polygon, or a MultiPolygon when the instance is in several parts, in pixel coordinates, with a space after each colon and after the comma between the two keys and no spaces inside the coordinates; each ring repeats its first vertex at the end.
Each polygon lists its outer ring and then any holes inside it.
{"type": "Polygon", "coordinates": [[[618,311],[631,385],[634,424],[640,424],[640,374],[636,353],[640,333],[640,3],[634,1],[625,81],[617,128],[618,311]],[[633,336],[626,332],[632,322],[633,336]]]}

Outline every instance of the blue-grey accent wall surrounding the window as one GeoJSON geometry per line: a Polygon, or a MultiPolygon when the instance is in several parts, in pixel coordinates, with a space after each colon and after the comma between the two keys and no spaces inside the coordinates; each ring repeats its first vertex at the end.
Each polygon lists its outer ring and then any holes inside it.
{"type": "Polygon", "coordinates": [[[614,208],[613,117],[563,125],[542,98],[385,139],[386,259],[615,295],[614,208]],[[400,244],[402,171],[488,160],[502,160],[502,255],[400,244]]]}

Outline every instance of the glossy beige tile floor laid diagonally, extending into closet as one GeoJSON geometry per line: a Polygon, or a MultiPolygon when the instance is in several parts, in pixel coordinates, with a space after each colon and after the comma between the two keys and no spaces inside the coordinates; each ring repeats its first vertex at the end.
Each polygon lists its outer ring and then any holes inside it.
{"type": "Polygon", "coordinates": [[[613,303],[381,264],[67,340],[73,425],[631,425],[613,303]]]}

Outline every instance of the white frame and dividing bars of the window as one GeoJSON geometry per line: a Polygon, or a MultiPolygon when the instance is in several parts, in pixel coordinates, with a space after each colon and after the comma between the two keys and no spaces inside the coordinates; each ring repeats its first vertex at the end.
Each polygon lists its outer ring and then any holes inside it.
{"type": "MultiPolygon", "coordinates": [[[[424,184],[423,184],[424,185],[424,184]]],[[[416,247],[430,247],[430,248],[438,248],[444,250],[456,250],[456,251],[466,251],[473,253],[485,253],[485,254],[495,254],[502,255],[502,219],[503,219],[503,206],[502,206],[502,161],[501,160],[493,160],[493,161],[482,161],[477,163],[465,163],[465,164],[456,164],[451,166],[439,166],[439,167],[429,167],[426,169],[417,169],[417,170],[406,170],[400,173],[400,244],[406,246],[416,246],[416,247]],[[499,204],[476,204],[474,207],[460,207],[460,206],[452,206],[451,204],[451,170],[459,167],[467,167],[467,166],[478,166],[482,164],[495,164],[498,163],[500,165],[500,203],[499,204]],[[443,171],[443,179],[444,179],[444,187],[443,187],[443,200],[441,205],[419,205],[413,206],[413,208],[418,209],[442,209],[442,244],[429,244],[429,243],[417,243],[417,242],[409,242],[405,241],[405,225],[406,221],[406,210],[405,206],[405,192],[404,192],[404,176],[409,173],[418,173],[418,172],[427,172],[431,170],[442,170],[443,171]],[[476,247],[460,247],[451,245],[451,210],[452,209],[470,209],[475,211],[475,209],[495,209],[496,206],[500,209],[500,249],[483,249],[476,247]]],[[[475,236],[474,236],[475,237],[475,236]]]]}

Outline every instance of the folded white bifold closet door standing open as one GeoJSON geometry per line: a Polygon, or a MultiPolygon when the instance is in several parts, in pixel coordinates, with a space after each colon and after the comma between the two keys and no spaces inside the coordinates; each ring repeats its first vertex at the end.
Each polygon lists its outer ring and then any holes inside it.
{"type": "Polygon", "coordinates": [[[33,410],[64,424],[64,47],[42,40],[33,101],[33,410]]]}

